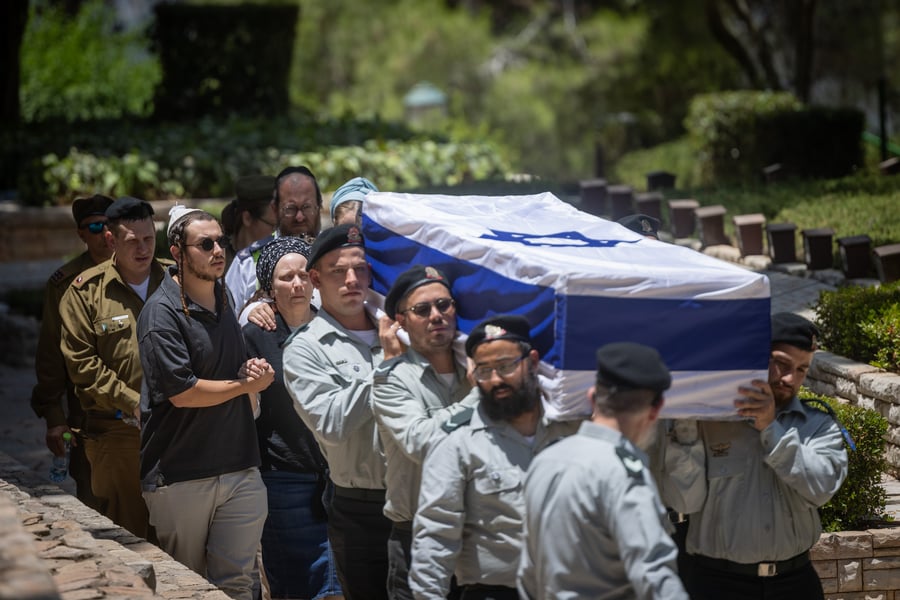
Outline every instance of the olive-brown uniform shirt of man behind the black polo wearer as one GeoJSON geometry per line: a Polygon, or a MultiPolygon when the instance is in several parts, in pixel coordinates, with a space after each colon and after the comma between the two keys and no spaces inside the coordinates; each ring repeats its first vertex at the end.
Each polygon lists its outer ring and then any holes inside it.
{"type": "MultiPolygon", "coordinates": [[[[148,298],[163,276],[163,265],[153,260],[148,298]]],[[[116,269],[115,256],[76,277],[63,295],[61,348],[85,410],[130,416],[140,403],[137,317],[143,306],[116,269]]]]}

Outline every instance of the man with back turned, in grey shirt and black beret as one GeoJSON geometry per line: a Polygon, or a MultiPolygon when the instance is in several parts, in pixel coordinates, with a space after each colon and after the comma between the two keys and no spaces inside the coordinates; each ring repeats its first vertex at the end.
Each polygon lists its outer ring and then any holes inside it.
{"type": "Polygon", "coordinates": [[[653,348],[616,342],[597,350],[590,421],[535,458],[525,480],[523,598],[687,600],[639,449],[671,383],[653,348]]]}

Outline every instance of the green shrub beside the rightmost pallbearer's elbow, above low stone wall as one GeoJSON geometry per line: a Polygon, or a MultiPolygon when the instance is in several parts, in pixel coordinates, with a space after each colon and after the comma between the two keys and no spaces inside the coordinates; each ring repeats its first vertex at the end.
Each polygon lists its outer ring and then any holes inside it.
{"type": "MultiPolygon", "coordinates": [[[[873,410],[841,404],[834,398],[817,396],[808,390],[801,390],[800,397],[828,404],[856,444],[856,450],[847,449],[847,479],[819,509],[822,528],[825,531],[867,529],[873,521],[885,520],[887,493],[881,486],[881,474],[886,466],[884,436],[887,420],[873,410]]],[[[810,406],[817,407],[815,402],[810,406]]]]}

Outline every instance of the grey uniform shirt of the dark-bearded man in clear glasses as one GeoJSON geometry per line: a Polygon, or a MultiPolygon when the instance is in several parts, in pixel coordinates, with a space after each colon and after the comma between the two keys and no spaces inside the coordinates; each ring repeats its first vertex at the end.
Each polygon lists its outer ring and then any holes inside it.
{"type": "Polygon", "coordinates": [[[537,452],[577,427],[542,418],[529,442],[479,405],[468,425],[435,444],[422,466],[413,524],[409,584],[416,598],[445,597],[454,573],[460,585],[515,587],[525,471],[537,452]]]}

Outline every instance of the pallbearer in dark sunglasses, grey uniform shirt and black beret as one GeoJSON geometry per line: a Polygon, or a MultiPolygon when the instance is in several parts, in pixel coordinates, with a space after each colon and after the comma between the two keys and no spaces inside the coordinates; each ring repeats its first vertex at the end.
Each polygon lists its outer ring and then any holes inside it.
{"type": "MultiPolygon", "coordinates": [[[[409,588],[412,520],[419,500],[422,461],[446,436],[441,425],[478,403],[472,385],[453,352],[456,306],[450,281],[434,267],[416,265],[397,277],[384,310],[393,329],[409,335],[409,348],[375,371],[372,409],[387,459],[384,514],[391,520],[388,542],[388,595],[412,598],[409,588]]],[[[471,412],[471,411],[470,411],[471,412]]]]}

